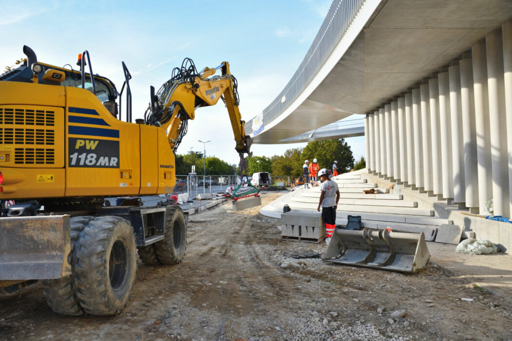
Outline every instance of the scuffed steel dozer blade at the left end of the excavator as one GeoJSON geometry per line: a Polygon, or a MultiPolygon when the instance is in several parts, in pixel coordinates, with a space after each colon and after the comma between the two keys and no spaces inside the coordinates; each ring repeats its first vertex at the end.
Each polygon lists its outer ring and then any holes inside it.
{"type": "Polygon", "coordinates": [[[0,218],[0,284],[69,276],[70,250],[69,215],[0,218]]]}

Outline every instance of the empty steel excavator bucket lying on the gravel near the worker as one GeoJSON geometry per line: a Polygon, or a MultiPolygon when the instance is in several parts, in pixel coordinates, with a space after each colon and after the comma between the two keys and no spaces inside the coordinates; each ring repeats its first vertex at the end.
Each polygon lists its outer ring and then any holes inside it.
{"type": "Polygon", "coordinates": [[[416,272],[430,260],[423,233],[336,229],[322,260],[351,266],[416,272]]]}

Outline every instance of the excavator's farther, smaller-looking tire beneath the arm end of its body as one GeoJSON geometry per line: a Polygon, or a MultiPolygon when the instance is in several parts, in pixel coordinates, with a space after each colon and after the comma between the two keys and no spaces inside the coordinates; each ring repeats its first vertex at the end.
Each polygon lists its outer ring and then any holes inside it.
{"type": "Polygon", "coordinates": [[[165,213],[165,237],[155,247],[162,264],[178,264],[185,257],[187,226],[180,208],[167,206],[165,213]]]}

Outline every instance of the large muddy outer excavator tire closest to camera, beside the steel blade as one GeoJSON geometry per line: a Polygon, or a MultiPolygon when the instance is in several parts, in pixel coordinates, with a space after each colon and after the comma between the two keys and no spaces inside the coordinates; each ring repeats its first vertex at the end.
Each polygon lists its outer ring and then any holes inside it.
{"type": "Polygon", "coordinates": [[[135,284],[137,254],[130,223],[97,217],[83,229],[73,255],[73,284],[83,310],[91,315],[119,313],[135,284]]]}

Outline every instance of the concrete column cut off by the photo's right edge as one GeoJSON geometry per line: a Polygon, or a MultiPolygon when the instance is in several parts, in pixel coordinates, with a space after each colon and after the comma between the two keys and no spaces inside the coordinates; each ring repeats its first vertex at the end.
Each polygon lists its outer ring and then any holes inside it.
{"type": "Polygon", "coordinates": [[[512,21],[501,27],[503,36],[503,78],[505,86],[505,116],[507,118],[508,195],[512,214],[512,21]]]}

